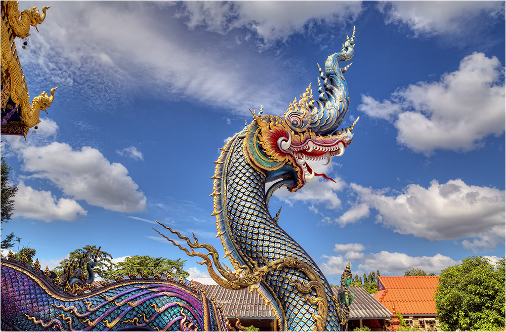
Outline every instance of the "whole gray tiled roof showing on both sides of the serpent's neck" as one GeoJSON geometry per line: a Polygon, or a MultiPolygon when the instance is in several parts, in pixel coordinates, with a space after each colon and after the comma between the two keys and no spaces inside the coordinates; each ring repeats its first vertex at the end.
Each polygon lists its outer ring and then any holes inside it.
{"type": "MultiPolygon", "coordinates": [[[[223,305],[223,311],[227,317],[274,319],[276,316],[271,307],[265,306],[265,302],[258,292],[249,292],[249,287],[232,291],[220,285],[203,285],[208,298],[216,297],[216,302],[223,305]]],[[[337,295],[339,287],[332,287],[337,295]]],[[[391,313],[378,300],[362,287],[350,287],[355,293],[355,298],[350,305],[349,319],[390,319],[391,313]]]]}

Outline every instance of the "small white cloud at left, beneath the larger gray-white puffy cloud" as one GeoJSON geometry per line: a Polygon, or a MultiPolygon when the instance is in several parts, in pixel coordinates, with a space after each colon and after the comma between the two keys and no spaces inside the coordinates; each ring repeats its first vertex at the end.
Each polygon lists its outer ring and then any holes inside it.
{"type": "Polygon", "coordinates": [[[57,199],[50,191],[35,190],[25,186],[23,182],[18,184],[14,208],[14,218],[24,217],[45,222],[77,221],[79,217],[85,217],[87,214],[75,200],[57,199]]]}

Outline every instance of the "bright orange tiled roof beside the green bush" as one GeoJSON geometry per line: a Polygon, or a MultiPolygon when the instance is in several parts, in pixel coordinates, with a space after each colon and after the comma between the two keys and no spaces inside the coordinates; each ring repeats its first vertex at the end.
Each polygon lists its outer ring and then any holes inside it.
{"type": "Polygon", "coordinates": [[[435,315],[434,293],[439,284],[437,276],[428,277],[378,277],[378,288],[374,294],[390,312],[401,315],[435,315]],[[382,287],[383,285],[383,287],[382,287]]]}

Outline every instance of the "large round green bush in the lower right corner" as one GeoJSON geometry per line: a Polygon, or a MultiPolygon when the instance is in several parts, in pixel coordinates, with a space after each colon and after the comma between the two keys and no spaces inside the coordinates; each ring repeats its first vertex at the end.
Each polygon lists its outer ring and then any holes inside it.
{"type": "Polygon", "coordinates": [[[504,326],[504,257],[497,268],[484,257],[471,256],[439,275],[434,300],[445,330],[497,330],[504,326]]]}

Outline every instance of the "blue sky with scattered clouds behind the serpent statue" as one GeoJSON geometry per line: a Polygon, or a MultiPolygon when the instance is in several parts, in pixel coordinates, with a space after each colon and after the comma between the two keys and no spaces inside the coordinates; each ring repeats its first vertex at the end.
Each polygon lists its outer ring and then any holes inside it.
{"type": "MultiPolygon", "coordinates": [[[[505,254],[504,2],[20,2],[52,6],[18,53],[37,130],[3,136],[3,225],[54,267],[87,244],[187,260],[154,220],[221,249],[215,161],[250,109],[283,114],[356,25],[354,140],[271,214],[331,283],[505,254]]],[[[316,93],[316,91],[315,91],[316,93]]]]}

